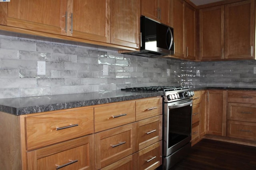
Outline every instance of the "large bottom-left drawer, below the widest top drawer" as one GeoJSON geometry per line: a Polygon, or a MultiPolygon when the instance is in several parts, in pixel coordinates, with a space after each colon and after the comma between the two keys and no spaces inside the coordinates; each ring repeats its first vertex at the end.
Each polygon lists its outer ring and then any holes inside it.
{"type": "Polygon", "coordinates": [[[40,148],[27,153],[29,170],[95,169],[94,135],[40,148]],[[58,165],[58,166],[57,166],[58,165]]]}

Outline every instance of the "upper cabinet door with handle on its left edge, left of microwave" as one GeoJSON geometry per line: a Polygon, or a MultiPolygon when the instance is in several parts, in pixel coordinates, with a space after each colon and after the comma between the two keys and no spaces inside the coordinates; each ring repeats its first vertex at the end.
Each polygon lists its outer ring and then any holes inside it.
{"type": "Polygon", "coordinates": [[[68,2],[68,16],[73,14],[73,33],[68,31],[70,36],[110,42],[109,0],[69,0],[68,2]]]}

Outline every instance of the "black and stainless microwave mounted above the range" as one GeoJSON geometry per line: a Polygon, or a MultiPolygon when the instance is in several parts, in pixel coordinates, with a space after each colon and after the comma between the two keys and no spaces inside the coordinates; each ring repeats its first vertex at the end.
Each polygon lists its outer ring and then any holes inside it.
{"type": "Polygon", "coordinates": [[[174,35],[172,27],[141,16],[140,31],[140,51],[123,54],[141,57],[162,57],[174,54],[174,35]]]}

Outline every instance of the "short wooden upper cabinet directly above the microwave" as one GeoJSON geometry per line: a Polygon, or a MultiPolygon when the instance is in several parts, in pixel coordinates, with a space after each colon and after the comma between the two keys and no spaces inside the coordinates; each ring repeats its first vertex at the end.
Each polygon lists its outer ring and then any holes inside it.
{"type": "Polygon", "coordinates": [[[171,0],[141,0],[141,15],[170,25],[171,0]]]}

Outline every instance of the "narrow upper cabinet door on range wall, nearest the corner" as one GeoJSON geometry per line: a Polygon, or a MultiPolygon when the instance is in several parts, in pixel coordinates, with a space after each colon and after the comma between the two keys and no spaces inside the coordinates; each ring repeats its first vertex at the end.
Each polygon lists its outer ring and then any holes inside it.
{"type": "MultiPolygon", "coordinates": [[[[185,58],[196,59],[196,10],[185,2],[184,4],[185,27],[185,58]]],[[[175,36],[175,35],[174,35],[175,36]]]]}

